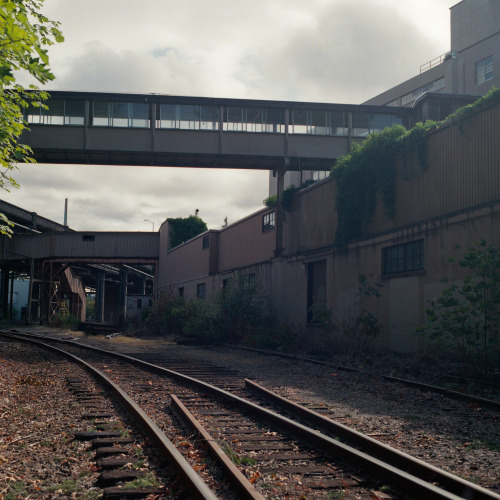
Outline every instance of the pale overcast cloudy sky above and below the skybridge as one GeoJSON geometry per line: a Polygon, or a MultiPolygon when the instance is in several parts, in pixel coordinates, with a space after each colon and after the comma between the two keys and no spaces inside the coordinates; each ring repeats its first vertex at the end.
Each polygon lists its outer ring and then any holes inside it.
{"type": "MultiPolygon", "coordinates": [[[[47,90],[358,104],[450,49],[458,0],[45,0],[65,42],[47,90]]],[[[21,83],[26,83],[23,76],[21,83]]],[[[267,172],[20,166],[9,203],[76,230],[149,231],[200,210],[211,229],[261,208],[267,172]]]]}

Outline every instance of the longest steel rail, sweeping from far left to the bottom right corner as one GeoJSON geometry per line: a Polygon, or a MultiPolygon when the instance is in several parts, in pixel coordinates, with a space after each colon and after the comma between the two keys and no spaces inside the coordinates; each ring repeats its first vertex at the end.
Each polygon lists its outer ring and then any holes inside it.
{"type": "MultiPolygon", "coordinates": [[[[32,335],[33,334],[30,334],[29,336],[32,335]]],[[[143,366],[157,373],[166,374],[171,378],[202,389],[205,393],[229,401],[232,404],[235,404],[240,408],[249,411],[259,418],[262,418],[263,420],[271,423],[272,425],[284,429],[289,435],[294,436],[309,445],[316,446],[328,456],[334,458],[341,457],[351,465],[363,467],[365,470],[369,471],[367,472],[367,475],[375,478],[376,480],[384,480],[389,482],[389,484],[391,484],[393,487],[396,487],[397,489],[400,489],[405,495],[408,495],[410,498],[415,498],[417,500],[421,500],[422,498],[429,500],[458,500],[463,498],[467,498],[468,500],[500,500],[499,495],[496,495],[486,488],[476,486],[473,483],[469,483],[465,480],[460,480],[457,483],[457,485],[459,486],[457,486],[456,489],[459,490],[459,493],[456,494],[451,491],[446,491],[438,486],[430,484],[429,482],[419,477],[416,477],[413,474],[407,473],[393,465],[385,463],[378,458],[372,457],[364,453],[363,451],[357,450],[347,444],[335,440],[334,438],[326,436],[319,431],[311,429],[274,411],[263,408],[255,403],[252,403],[251,401],[225,391],[224,389],[220,389],[214,385],[202,382],[201,380],[197,380],[188,375],[184,375],[182,373],[169,370],[168,368],[163,368],[161,366],[148,363],[147,361],[143,361],[126,354],[112,352],[106,349],[99,349],[97,347],[79,344],[69,340],[55,339],[52,337],[50,338],[50,340],[67,343],[70,345],[72,344],[83,349],[88,349],[90,351],[105,353],[110,356],[125,359],[137,366],[143,366]]]]}

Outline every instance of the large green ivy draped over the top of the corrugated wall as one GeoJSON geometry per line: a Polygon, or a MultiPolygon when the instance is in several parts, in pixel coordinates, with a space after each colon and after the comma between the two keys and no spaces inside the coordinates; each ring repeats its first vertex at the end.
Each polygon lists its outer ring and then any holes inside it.
{"type": "Polygon", "coordinates": [[[400,125],[370,135],[362,144],[339,158],[330,176],[336,182],[338,226],[337,246],[344,246],[362,236],[375,211],[377,195],[386,217],[395,215],[396,158],[404,161],[415,155],[420,167],[427,168],[427,136],[440,126],[457,121],[463,132],[470,117],[480,109],[500,103],[500,89],[493,89],[476,102],[460,108],[442,122],[418,123],[407,131],[400,125]]]}

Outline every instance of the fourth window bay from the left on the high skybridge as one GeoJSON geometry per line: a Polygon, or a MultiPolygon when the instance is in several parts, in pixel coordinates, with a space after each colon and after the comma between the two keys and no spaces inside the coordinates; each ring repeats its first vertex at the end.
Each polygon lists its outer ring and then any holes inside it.
{"type": "Polygon", "coordinates": [[[278,108],[228,106],[224,109],[223,130],[282,134],[285,132],[284,113],[278,108]]]}

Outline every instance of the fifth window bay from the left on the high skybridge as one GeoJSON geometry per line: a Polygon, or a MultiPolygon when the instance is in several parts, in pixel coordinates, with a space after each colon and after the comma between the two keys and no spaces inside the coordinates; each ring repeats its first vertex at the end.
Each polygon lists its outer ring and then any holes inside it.
{"type": "Polygon", "coordinates": [[[347,116],[342,111],[292,109],[288,131],[291,134],[347,135],[347,116]]]}

